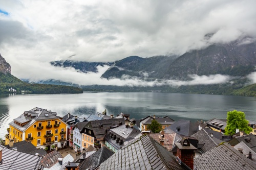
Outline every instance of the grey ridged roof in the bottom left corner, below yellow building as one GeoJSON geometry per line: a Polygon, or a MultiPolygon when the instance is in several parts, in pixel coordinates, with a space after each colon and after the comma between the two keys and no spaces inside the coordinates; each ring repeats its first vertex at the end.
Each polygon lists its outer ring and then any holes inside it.
{"type": "Polygon", "coordinates": [[[30,155],[27,153],[10,150],[3,145],[0,145],[2,150],[3,163],[0,164],[1,170],[35,170],[42,169],[40,165],[41,157],[30,155]]]}

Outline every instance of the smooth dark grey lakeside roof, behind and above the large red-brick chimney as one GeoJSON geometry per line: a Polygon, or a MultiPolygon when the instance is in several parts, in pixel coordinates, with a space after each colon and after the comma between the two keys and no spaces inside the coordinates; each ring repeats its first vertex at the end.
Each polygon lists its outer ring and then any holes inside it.
{"type": "Polygon", "coordinates": [[[167,129],[171,129],[175,133],[178,133],[184,136],[191,136],[198,131],[198,127],[195,124],[191,123],[190,120],[184,120],[184,119],[179,119],[177,122],[168,126],[164,130],[166,131],[167,129]]]}

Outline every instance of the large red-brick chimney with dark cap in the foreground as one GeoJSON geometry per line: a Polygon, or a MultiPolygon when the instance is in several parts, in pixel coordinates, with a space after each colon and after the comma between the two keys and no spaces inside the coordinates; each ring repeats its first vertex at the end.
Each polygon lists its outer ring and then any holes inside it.
{"type": "Polygon", "coordinates": [[[194,168],[194,150],[197,150],[192,144],[190,145],[187,138],[181,139],[180,143],[175,142],[177,146],[178,161],[185,163],[191,169],[194,168]]]}

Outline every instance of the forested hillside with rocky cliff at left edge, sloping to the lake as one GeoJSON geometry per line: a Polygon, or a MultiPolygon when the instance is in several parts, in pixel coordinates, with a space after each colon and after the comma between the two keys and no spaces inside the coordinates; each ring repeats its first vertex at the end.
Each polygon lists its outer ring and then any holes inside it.
{"type": "Polygon", "coordinates": [[[3,93],[82,93],[82,89],[72,86],[31,84],[23,82],[11,75],[11,66],[0,55],[0,94],[3,93]],[[12,89],[12,90],[10,90],[12,89]]]}

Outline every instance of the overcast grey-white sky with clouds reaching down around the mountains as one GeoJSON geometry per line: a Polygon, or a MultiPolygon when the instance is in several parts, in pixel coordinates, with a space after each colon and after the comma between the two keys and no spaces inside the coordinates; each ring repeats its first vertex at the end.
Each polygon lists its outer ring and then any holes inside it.
{"type": "MultiPolygon", "coordinates": [[[[255,6],[256,1],[236,0],[0,0],[0,53],[20,79],[100,84],[100,74],[108,67],[86,75],[54,68],[49,62],[72,55],[73,60],[100,62],[132,55],[180,55],[214,42],[256,37],[255,6]],[[206,41],[207,33],[215,35],[206,41]]],[[[250,75],[256,82],[255,77],[250,75]]],[[[191,78],[191,84],[230,79],[223,75],[191,78]]],[[[136,79],[104,84],[127,81],[143,84],[136,79]]]]}

